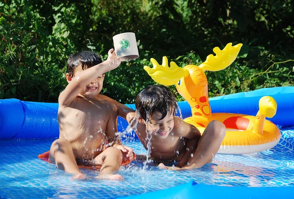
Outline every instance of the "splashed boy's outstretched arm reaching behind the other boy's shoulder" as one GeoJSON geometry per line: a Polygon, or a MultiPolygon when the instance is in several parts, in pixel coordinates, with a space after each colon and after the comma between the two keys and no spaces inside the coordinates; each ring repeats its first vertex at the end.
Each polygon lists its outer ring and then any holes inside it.
{"type": "Polygon", "coordinates": [[[123,119],[125,119],[128,123],[130,123],[132,121],[132,119],[135,116],[135,110],[128,108],[127,106],[115,101],[114,99],[111,99],[110,97],[107,97],[105,95],[99,94],[98,97],[102,100],[106,100],[109,102],[112,102],[113,104],[115,104],[115,106],[118,109],[118,115],[123,117],[123,119]]]}

